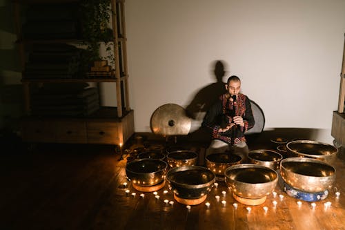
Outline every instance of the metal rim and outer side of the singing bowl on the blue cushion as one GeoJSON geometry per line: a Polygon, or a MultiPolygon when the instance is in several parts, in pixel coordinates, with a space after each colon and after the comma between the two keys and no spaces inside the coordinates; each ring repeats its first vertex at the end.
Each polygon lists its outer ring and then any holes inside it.
{"type": "Polygon", "coordinates": [[[280,175],[282,176],[282,179],[286,184],[293,186],[295,189],[299,189],[301,191],[309,192],[309,193],[317,193],[320,191],[325,191],[329,189],[331,186],[333,186],[333,183],[335,182],[335,174],[336,169],[331,164],[328,164],[327,162],[324,162],[322,160],[317,160],[309,157],[288,157],[282,162],[280,162],[280,175]],[[331,175],[326,176],[313,176],[313,175],[303,175],[300,173],[295,173],[294,171],[290,171],[289,169],[286,169],[284,164],[286,162],[311,162],[311,163],[317,163],[317,164],[323,164],[331,168],[331,175]],[[291,179],[297,178],[293,184],[291,183],[291,179]],[[323,186],[319,186],[320,184],[315,184],[313,182],[312,184],[308,181],[310,180],[318,180],[319,183],[323,182],[323,186]],[[306,186],[306,184],[308,186],[306,186]]]}

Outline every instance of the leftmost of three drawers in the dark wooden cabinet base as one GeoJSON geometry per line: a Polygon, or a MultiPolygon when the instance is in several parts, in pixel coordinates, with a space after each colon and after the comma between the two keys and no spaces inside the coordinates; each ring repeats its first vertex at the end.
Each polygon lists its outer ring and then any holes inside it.
{"type": "Polygon", "coordinates": [[[46,121],[24,121],[22,136],[26,142],[55,142],[54,125],[46,121]]]}

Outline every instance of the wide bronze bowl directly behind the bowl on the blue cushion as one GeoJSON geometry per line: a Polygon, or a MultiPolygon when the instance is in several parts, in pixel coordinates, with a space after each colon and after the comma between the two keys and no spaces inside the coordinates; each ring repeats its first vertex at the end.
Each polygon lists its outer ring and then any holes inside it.
{"type": "Polygon", "coordinates": [[[338,150],[331,144],[311,140],[288,142],[286,148],[299,157],[310,157],[332,164],[337,158],[338,150]]]}

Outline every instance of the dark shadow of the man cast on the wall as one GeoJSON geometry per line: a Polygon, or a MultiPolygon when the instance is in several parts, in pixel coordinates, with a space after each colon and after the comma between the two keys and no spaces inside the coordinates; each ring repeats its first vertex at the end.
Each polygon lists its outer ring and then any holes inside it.
{"type": "Polygon", "coordinates": [[[186,112],[193,121],[190,133],[188,134],[191,140],[210,140],[210,133],[204,128],[201,128],[201,122],[213,102],[222,94],[226,93],[226,83],[223,82],[226,72],[224,62],[220,60],[215,61],[215,68],[213,70],[215,82],[201,88],[188,106],[186,106],[186,112]]]}

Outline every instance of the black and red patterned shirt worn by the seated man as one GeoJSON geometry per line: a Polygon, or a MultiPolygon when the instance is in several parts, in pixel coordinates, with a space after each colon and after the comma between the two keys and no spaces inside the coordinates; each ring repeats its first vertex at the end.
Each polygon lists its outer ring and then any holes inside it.
{"type": "Polygon", "coordinates": [[[228,144],[246,142],[244,133],[253,128],[254,124],[250,99],[242,93],[237,95],[235,102],[231,101],[227,94],[221,95],[217,102],[210,107],[204,117],[204,122],[202,122],[203,127],[210,128],[212,139],[221,140],[228,144]],[[236,125],[226,132],[219,132],[221,123],[224,123],[224,120],[226,120],[226,123],[230,125],[233,121],[233,116],[241,116],[244,126],[236,125]]]}

